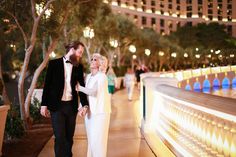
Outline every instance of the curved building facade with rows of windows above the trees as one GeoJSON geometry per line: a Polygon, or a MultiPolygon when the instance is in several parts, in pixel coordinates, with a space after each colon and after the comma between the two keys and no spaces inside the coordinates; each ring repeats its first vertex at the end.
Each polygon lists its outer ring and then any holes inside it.
{"type": "Polygon", "coordinates": [[[162,35],[178,27],[218,22],[236,37],[236,0],[104,0],[114,13],[128,16],[140,28],[152,27],[162,35]]]}

